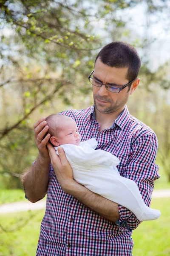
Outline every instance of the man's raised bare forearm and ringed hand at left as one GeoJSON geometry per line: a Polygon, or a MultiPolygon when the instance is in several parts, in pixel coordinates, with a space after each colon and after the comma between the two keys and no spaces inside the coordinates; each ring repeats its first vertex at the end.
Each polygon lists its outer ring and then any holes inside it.
{"type": "Polygon", "coordinates": [[[33,163],[33,166],[26,170],[21,177],[26,197],[32,203],[42,199],[47,193],[51,162],[46,147],[50,134],[47,134],[44,138],[47,131],[47,122],[45,118],[42,117],[34,124],[34,140],[39,150],[39,155],[37,160],[33,163]]]}

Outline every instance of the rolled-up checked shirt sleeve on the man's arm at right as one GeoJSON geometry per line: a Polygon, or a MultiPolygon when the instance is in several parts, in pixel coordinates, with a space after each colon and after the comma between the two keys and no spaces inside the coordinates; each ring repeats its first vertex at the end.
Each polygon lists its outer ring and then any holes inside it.
{"type": "MultiPolygon", "coordinates": [[[[156,134],[149,133],[139,137],[132,145],[127,165],[123,169],[123,177],[135,181],[144,203],[149,207],[154,187],[154,180],[160,177],[156,165],[158,141],[156,134]]],[[[120,218],[117,224],[124,223],[131,230],[136,229],[141,221],[127,208],[119,205],[120,218]]]]}

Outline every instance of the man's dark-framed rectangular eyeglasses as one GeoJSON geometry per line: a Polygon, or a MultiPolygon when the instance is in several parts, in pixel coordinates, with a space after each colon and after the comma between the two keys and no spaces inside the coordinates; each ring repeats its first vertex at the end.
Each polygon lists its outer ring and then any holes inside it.
{"type": "Polygon", "coordinates": [[[128,84],[123,85],[121,88],[116,87],[116,86],[112,86],[109,84],[102,84],[102,82],[97,81],[96,79],[92,78],[91,75],[94,73],[94,70],[90,73],[90,75],[88,76],[88,80],[91,84],[93,84],[94,86],[97,87],[101,87],[102,85],[105,85],[106,89],[112,93],[119,93],[121,90],[123,90],[124,88],[126,88],[128,85],[131,85],[133,83],[133,81],[135,81],[135,79],[133,79],[132,81],[130,81],[128,84]]]}

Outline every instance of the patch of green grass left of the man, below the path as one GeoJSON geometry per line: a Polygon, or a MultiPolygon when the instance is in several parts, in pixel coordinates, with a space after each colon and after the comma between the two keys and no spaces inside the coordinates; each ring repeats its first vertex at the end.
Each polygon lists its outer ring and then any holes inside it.
{"type": "Polygon", "coordinates": [[[0,256],[34,256],[40,234],[40,223],[45,210],[16,212],[0,215],[0,256]],[[19,228],[19,225],[23,226],[19,228]]]}

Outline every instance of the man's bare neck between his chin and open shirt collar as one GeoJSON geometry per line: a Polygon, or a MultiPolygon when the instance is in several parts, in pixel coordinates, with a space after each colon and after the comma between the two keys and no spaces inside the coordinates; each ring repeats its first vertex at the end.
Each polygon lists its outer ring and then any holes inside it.
{"type": "Polygon", "coordinates": [[[116,118],[120,115],[120,113],[122,113],[124,108],[125,108],[125,106],[123,106],[122,108],[119,108],[117,111],[115,111],[113,113],[108,113],[108,114],[100,113],[95,108],[94,111],[95,111],[95,115],[96,115],[96,121],[100,124],[101,127],[104,128],[105,126],[108,126],[105,128],[110,128],[110,127],[112,127],[116,118]]]}

